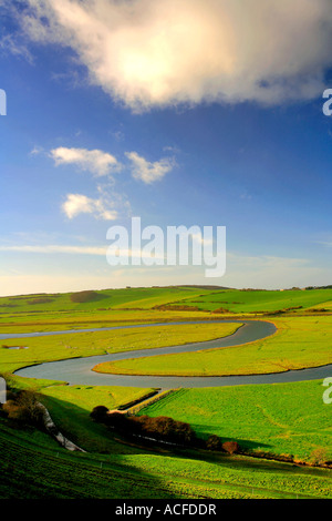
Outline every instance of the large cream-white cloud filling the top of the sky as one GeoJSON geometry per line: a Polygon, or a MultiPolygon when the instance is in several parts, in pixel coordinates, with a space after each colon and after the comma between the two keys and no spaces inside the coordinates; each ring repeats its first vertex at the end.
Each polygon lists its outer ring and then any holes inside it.
{"type": "Polygon", "coordinates": [[[71,47],[91,81],[133,110],[281,103],[321,94],[330,0],[28,0],[34,41],[71,47]]]}

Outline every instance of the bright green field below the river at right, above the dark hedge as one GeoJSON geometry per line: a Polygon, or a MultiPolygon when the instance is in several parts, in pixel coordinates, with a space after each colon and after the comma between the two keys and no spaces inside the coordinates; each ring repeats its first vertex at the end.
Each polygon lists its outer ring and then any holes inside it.
{"type": "Polygon", "coordinates": [[[312,462],[315,452],[332,461],[331,407],[322,400],[321,380],[180,389],[139,415],[170,416],[189,422],[207,438],[238,441],[249,453],[312,462]]]}

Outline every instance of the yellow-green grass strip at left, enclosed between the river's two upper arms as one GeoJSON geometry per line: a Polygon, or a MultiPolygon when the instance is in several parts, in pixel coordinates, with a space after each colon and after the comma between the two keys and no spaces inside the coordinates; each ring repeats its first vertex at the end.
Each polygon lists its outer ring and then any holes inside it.
{"type": "Polygon", "coordinates": [[[1,340],[0,344],[0,374],[12,372],[21,367],[43,361],[211,340],[235,333],[239,326],[239,324],[214,323],[169,325],[10,338],[1,340]],[[28,347],[28,349],[8,349],[13,346],[28,347]]]}

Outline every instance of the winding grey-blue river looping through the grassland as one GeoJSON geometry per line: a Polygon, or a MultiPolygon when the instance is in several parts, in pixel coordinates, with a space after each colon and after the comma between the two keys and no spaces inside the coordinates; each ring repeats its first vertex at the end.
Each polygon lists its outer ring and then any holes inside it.
{"type": "MultiPolygon", "coordinates": [[[[273,335],[277,330],[272,323],[264,320],[214,320],[214,323],[222,324],[243,324],[235,334],[228,337],[191,343],[181,346],[163,347],[156,349],[139,349],[126,353],[116,353],[111,355],[91,356],[84,358],[70,358],[65,360],[39,364],[25,367],[15,371],[18,376],[28,378],[43,378],[50,380],[66,381],[70,385],[92,385],[92,386],[125,386],[125,387],[154,387],[160,389],[174,389],[179,387],[221,387],[238,386],[246,384],[278,384],[321,379],[332,374],[332,365],[317,367],[311,369],[292,370],[284,372],[276,372],[269,375],[250,375],[250,376],[225,376],[225,377],[159,377],[159,376],[127,376],[127,375],[107,375],[95,372],[92,368],[96,364],[104,361],[116,361],[127,358],[141,358],[147,356],[158,356],[174,353],[188,353],[201,349],[231,347],[250,341],[259,340],[273,335]]],[[[3,334],[0,339],[4,338],[29,338],[46,335],[64,335],[69,333],[86,333],[86,331],[104,331],[123,328],[137,327],[156,327],[156,326],[174,326],[184,324],[211,324],[210,321],[181,321],[181,323],[163,323],[163,324],[143,324],[131,326],[114,326],[110,328],[93,329],[73,329],[65,331],[46,331],[46,333],[28,333],[28,334],[3,334]]],[[[27,343],[29,344],[29,343],[27,343]]],[[[245,353],[243,350],[241,351],[245,353]]]]}

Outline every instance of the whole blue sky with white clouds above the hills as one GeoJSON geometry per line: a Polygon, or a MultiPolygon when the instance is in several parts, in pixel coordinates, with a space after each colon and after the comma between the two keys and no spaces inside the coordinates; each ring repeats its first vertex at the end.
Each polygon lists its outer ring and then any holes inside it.
{"type": "Polygon", "coordinates": [[[330,0],[0,0],[0,295],[332,284],[331,44],[330,0]],[[133,217],[225,274],[111,266],[133,217]]]}

